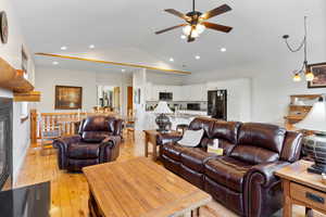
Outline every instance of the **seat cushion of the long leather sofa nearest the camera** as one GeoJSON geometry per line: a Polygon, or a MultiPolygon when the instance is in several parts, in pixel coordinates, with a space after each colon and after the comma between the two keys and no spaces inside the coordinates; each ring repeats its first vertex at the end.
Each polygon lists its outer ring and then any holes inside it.
{"type": "Polygon", "coordinates": [[[251,164],[228,156],[209,159],[204,166],[208,177],[237,192],[242,192],[244,176],[252,167],[251,164]]]}

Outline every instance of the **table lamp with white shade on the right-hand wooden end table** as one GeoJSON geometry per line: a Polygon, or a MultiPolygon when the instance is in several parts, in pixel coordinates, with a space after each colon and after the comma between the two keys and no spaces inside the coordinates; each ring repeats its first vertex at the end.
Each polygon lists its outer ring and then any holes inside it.
{"type": "Polygon", "coordinates": [[[315,164],[308,169],[310,173],[326,173],[326,102],[323,94],[314,104],[306,117],[294,127],[313,130],[314,135],[303,139],[303,151],[311,156],[315,164]]]}

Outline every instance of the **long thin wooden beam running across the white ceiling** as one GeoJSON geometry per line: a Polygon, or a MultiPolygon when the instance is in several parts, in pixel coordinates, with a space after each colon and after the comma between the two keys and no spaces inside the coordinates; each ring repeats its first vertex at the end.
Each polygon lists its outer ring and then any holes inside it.
{"type": "Polygon", "coordinates": [[[133,63],[118,63],[118,62],[112,62],[112,61],[101,61],[101,60],[95,60],[95,59],[85,59],[85,58],[60,55],[60,54],[52,54],[52,53],[35,53],[35,54],[50,56],[50,58],[60,58],[60,59],[68,59],[68,60],[77,60],[77,61],[87,61],[87,62],[93,62],[93,63],[102,63],[102,64],[109,64],[109,65],[120,65],[120,66],[146,68],[146,69],[152,69],[152,71],[162,71],[162,72],[166,72],[166,73],[174,73],[174,74],[181,74],[181,75],[191,75],[191,73],[187,72],[187,71],[176,71],[176,69],[168,69],[168,68],[154,67],[154,66],[148,66],[148,65],[139,65],[139,64],[133,64],[133,63]]]}

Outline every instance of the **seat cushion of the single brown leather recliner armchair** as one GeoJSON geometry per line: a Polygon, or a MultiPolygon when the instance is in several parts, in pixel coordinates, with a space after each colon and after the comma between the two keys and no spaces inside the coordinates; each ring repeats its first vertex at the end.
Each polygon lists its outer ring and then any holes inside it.
{"type": "Polygon", "coordinates": [[[100,144],[72,143],[67,148],[67,157],[75,159],[99,158],[100,144]]]}

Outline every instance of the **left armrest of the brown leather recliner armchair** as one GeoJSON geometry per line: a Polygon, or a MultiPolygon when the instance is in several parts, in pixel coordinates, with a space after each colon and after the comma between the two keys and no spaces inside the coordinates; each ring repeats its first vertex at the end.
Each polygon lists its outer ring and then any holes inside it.
{"type": "Polygon", "coordinates": [[[59,150],[58,152],[58,163],[60,169],[66,168],[66,153],[67,148],[72,143],[77,143],[82,140],[79,135],[70,137],[60,137],[53,141],[53,146],[59,150]]]}

